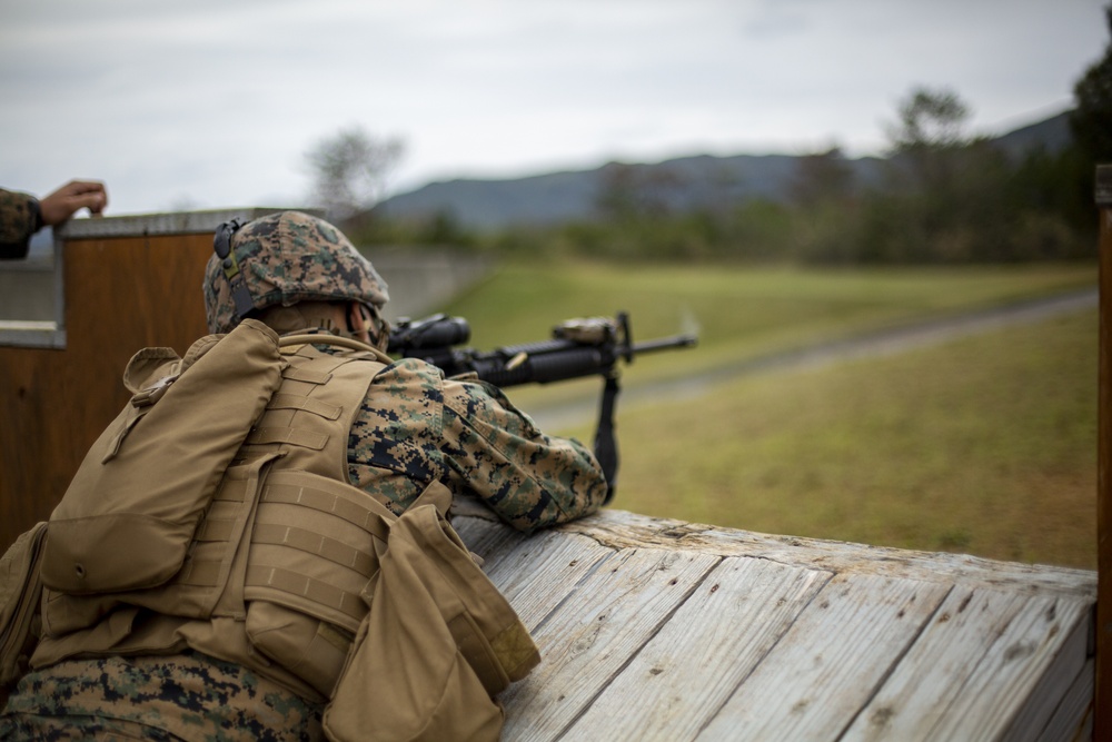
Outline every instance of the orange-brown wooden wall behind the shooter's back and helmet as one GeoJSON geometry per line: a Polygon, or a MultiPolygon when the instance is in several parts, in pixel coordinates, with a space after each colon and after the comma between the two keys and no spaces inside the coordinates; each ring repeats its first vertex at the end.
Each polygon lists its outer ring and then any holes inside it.
{"type": "Polygon", "coordinates": [[[89,446],[128,403],[121,377],[131,356],[147,346],[181,355],[208,332],[201,281],[211,225],[152,235],[122,219],[116,231],[132,234],[113,235],[112,220],[102,221],[85,231],[107,236],[83,236],[78,222],[60,233],[66,347],[0,347],[2,548],[50,516],[89,446]]]}

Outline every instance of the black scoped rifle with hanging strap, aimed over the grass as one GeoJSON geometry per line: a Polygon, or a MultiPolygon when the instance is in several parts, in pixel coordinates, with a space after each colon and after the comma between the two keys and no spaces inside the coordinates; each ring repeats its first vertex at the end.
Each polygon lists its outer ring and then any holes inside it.
{"type": "Polygon", "coordinates": [[[470,326],[463,317],[444,314],[419,320],[403,317],[390,329],[387,353],[404,358],[420,358],[439,367],[449,378],[478,378],[504,388],[602,376],[605,383],[594,447],[595,457],[609,485],[607,503],[614,497],[618,469],[614,437],[614,408],[619,392],[618,362],[629,364],[639,354],[692,347],[698,339],[695,335],[676,335],[634,343],[629,315],[625,311],[619,311],[613,319],[570,319],[553,328],[549,340],[487,352],[459,347],[470,340],[470,326]]]}

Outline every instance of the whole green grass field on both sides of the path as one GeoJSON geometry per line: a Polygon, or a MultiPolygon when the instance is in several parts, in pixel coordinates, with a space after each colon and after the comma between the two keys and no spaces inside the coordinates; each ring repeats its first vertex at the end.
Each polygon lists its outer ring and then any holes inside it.
{"type": "MultiPolygon", "coordinates": [[[[471,320],[478,347],[539,339],[549,318],[615,308],[633,313],[643,337],[698,325],[698,349],[638,360],[625,374],[629,387],[1095,279],[1094,266],[833,274],[514,267],[448,310],[471,320]]],[[[1096,337],[1095,310],[1082,311],[892,357],[739,378],[694,400],[619,408],[614,506],[1094,568],[1096,337]]],[[[560,393],[512,396],[528,410],[560,393]]],[[[593,431],[560,433],[586,439],[593,431]]]]}

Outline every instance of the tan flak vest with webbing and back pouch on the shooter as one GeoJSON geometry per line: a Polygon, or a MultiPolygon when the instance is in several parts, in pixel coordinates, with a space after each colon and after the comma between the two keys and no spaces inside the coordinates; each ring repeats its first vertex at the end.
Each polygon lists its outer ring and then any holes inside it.
{"type": "Polygon", "coordinates": [[[188,646],[327,700],[394,518],[346,484],[383,364],[252,320],[217,339],[129,365],[132,404],[50,520],[31,665],[188,646]]]}

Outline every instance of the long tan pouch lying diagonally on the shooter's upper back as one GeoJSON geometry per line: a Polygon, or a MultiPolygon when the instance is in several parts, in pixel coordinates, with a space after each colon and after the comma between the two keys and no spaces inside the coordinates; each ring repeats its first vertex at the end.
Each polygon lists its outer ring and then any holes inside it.
{"type": "Polygon", "coordinates": [[[284,363],[278,336],[252,319],[201,338],[182,360],[167,348],[136,354],[125,374],[130,404],[50,516],[43,584],[82,595],[169,580],[284,363]]]}

